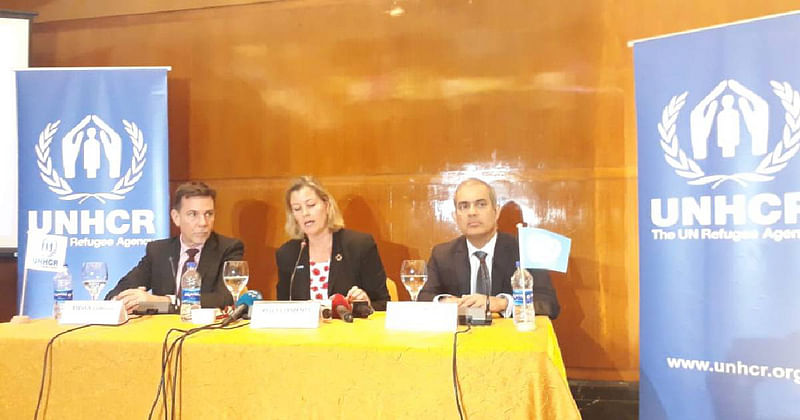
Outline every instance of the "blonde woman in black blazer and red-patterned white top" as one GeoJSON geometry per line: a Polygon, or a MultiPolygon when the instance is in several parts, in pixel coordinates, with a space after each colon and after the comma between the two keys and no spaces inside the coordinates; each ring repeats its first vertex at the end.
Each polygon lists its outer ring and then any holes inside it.
{"type": "Polygon", "coordinates": [[[372,235],[344,229],[336,200],[312,177],[295,180],[284,204],[292,239],[275,252],[278,299],[323,300],[339,293],[386,310],[386,272],[372,235]]]}

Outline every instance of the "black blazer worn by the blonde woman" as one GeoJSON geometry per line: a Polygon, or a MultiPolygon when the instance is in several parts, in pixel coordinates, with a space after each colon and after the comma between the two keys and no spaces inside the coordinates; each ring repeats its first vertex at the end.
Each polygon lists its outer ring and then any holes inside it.
{"type": "MultiPolygon", "coordinates": [[[[275,252],[278,265],[278,299],[289,299],[289,283],[292,269],[300,252],[300,239],[292,239],[275,252]]],[[[293,300],[311,299],[308,264],[308,247],[303,248],[292,287],[293,300]]],[[[383,270],[378,246],[372,235],[341,229],[333,233],[331,247],[328,296],[336,293],[347,295],[351,287],[358,286],[369,296],[372,307],[386,310],[389,290],[386,289],[386,272],[383,270]]]]}

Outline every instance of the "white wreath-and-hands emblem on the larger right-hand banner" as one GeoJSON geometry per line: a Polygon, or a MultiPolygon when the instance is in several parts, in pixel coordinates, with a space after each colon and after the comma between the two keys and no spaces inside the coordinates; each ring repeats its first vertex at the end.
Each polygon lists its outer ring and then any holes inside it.
{"type": "Polygon", "coordinates": [[[769,110],[766,101],[736,80],[723,80],[691,111],[692,157],[680,147],[675,132],[678,113],[686,104],[689,92],[673,96],[664,107],[661,112],[661,122],[658,123],[658,133],[667,164],[678,176],[688,179],[687,183],[690,185],[711,184],[711,189],[717,188],[725,181],[735,181],[746,186],[748,182],[767,182],[775,179],[775,174],[784,169],[789,160],[800,150],[800,94],[789,82],[780,83],[773,80],[770,81],[770,86],[786,111],[783,137],[774,149],[767,152],[769,110]],[[738,109],[733,107],[737,103],[734,95],[722,95],[726,88],[738,96],[738,109]],[[733,158],[737,148],[741,150],[739,132],[741,119],[744,119],[744,125],[750,132],[750,152],[753,156],[764,156],[764,158],[758,166],[747,172],[706,174],[697,161],[705,159],[708,155],[709,140],[711,140],[709,135],[713,124],[717,125],[715,145],[719,147],[722,157],[733,158]]]}

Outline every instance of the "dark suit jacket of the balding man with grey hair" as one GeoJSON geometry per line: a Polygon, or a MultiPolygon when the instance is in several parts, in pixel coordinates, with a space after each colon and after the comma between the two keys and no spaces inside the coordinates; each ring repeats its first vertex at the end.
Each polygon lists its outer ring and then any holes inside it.
{"type": "MultiPolygon", "coordinates": [[[[511,294],[511,275],[519,261],[517,238],[497,232],[492,258],[492,295],[511,294]]],[[[555,319],[561,312],[558,297],[545,270],[528,270],[533,275],[533,306],[536,315],[555,319]]],[[[469,255],[467,238],[460,236],[436,245],[428,261],[428,281],[419,292],[419,301],[430,301],[436,295],[462,296],[470,294],[469,255]]]]}

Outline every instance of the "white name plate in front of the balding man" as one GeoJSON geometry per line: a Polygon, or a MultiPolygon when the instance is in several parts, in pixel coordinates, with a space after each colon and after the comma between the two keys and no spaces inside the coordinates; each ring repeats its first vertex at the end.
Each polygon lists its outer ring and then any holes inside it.
{"type": "Polygon", "coordinates": [[[458,304],[435,302],[388,302],[386,329],[454,332],[458,328],[458,304]]]}

